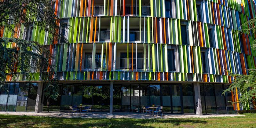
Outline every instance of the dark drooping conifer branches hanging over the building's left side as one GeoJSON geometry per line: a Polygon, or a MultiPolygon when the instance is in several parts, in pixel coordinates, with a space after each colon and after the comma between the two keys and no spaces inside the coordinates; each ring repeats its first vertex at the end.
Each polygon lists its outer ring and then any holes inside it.
{"type": "Polygon", "coordinates": [[[59,27],[65,27],[59,21],[51,0],[0,0],[0,88],[3,89],[6,77],[15,79],[22,75],[30,83],[34,77],[31,73],[40,72],[44,91],[47,90],[44,95],[52,99],[59,96],[51,51],[22,37],[29,27],[37,27],[40,32],[47,32],[52,44],[61,37],[59,27]]]}

